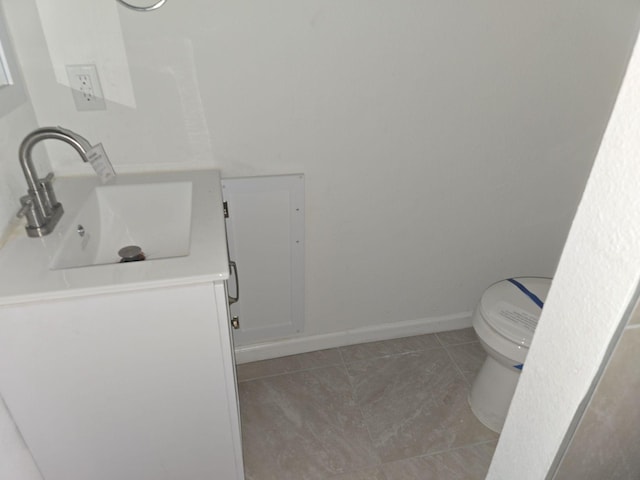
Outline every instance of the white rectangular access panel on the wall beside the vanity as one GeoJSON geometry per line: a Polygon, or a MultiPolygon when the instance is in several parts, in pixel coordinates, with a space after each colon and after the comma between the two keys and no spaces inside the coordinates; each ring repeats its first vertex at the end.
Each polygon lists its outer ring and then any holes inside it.
{"type": "MultiPolygon", "coordinates": [[[[222,180],[229,256],[240,300],[236,346],[288,337],[304,327],[304,176],[222,180]]],[[[236,294],[234,279],[230,295],[236,294]]]]}

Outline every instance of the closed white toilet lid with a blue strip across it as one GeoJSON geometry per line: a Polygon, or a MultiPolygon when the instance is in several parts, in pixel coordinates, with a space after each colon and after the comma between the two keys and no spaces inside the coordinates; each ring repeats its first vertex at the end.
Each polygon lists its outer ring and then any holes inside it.
{"type": "MultiPolygon", "coordinates": [[[[516,278],[543,302],[551,288],[550,278],[516,278]]],[[[531,345],[542,309],[508,280],[491,285],[480,300],[480,314],[498,333],[518,345],[531,345]]]]}

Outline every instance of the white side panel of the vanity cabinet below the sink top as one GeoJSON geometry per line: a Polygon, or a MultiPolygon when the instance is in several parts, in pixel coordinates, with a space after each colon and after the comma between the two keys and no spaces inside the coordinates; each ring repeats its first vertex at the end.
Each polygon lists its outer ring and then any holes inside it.
{"type": "Polygon", "coordinates": [[[45,480],[244,478],[224,281],[0,307],[0,393],[45,480]]]}

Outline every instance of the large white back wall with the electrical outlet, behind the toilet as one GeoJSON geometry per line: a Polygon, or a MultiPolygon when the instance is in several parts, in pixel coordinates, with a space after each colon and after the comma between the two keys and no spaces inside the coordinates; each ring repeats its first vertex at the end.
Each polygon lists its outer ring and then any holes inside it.
{"type": "Polygon", "coordinates": [[[552,275],[638,16],[631,0],[61,0],[43,29],[35,0],[5,1],[39,123],[103,141],[116,168],[306,175],[305,335],[464,314],[498,279],[552,275]],[[51,32],[91,9],[124,54],[61,48],[51,32]],[[74,110],[60,62],[98,63],[106,111],[74,110]]]}

